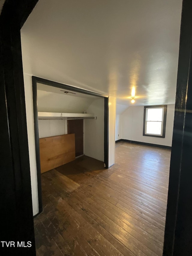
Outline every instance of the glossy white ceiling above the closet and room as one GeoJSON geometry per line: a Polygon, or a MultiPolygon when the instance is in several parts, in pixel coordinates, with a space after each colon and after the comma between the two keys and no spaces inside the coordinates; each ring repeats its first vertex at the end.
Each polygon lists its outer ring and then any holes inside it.
{"type": "Polygon", "coordinates": [[[117,97],[175,102],[182,0],[39,0],[21,30],[25,73],[117,97]]]}

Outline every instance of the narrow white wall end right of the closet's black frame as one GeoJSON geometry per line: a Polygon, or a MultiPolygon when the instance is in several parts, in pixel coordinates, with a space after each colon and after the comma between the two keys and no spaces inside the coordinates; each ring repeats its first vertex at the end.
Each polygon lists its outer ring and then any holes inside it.
{"type": "Polygon", "coordinates": [[[109,167],[115,163],[116,98],[109,97],[109,167]]]}

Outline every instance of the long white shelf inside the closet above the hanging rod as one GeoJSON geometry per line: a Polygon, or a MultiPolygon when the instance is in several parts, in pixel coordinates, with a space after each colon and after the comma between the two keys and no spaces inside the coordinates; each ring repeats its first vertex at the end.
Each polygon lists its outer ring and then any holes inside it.
{"type": "Polygon", "coordinates": [[[39,120],[97,119],[94,114],[38,112],[39,120]]]}

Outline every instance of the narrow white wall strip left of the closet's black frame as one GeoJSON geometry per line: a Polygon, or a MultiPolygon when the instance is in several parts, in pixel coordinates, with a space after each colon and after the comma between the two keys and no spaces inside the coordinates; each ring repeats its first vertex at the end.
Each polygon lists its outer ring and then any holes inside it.
{"type": "Polygon", "coordinates": [[[25,102],[26,102],[26,118],[27,118],[28,145],[29,145],[29,163],[30,163],[30,173],[31,173],[33,215],[36,215],[39,212],[39,205],[38,205],[38,187],[37,187],[37,167],[36,167],[36,156],[35,156],[32,77],[28,74],[23,74],[23,75],[24,75],[24,86],[25,86],[25,102]]]}

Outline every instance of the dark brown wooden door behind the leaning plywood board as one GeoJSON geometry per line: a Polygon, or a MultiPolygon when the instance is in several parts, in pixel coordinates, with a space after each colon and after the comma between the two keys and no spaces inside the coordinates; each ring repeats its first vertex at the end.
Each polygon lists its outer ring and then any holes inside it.
{"type": "Polygon", "coordinates": [[[83,119],[67,120],[67,133],[75,134],[75,156],[83,155],[83,119]]]}

